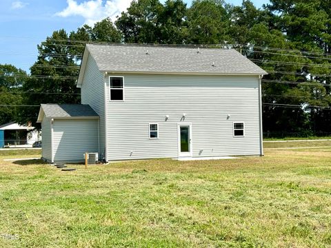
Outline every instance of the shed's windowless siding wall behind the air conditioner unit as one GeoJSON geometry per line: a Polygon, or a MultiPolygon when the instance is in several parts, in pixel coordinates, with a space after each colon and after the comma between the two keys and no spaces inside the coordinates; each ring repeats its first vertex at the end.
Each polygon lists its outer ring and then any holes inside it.
{"type": "Polygon", "coordinates": [[[54,119],[54,162],[83,161],[85,152],[98,152],[97,119],[54,119]]]}

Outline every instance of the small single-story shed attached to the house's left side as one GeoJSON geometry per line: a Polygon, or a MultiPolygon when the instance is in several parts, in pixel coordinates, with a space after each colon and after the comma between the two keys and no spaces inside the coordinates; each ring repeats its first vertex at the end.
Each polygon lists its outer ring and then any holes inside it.
{"type": "Polygon", "coordinates": [[[79,163],[85,152],[99,153],[99,115],[83,104],[41,104],[42,158],[49,163],[79,163]]]}

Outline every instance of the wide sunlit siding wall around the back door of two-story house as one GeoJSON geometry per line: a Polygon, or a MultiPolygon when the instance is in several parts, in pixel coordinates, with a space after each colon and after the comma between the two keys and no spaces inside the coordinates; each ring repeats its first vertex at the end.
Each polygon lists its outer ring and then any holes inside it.
{"type": "Polygon", "coordinates": [[[123,76],[126,101],[107,103],[108,160],[177,157],[181,122],[192,123],[194,157],[260,154],[258,76],[123,76]],[[236,138],[233,122],[243,121],[236,138]],[[149,123],[162,130],[154,142],[149,123]]]}

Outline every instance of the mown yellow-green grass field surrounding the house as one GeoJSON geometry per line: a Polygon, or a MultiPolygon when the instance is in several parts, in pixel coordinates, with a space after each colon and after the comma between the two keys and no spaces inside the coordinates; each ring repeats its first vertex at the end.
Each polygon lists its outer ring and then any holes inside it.
{"type": "Polygon", "coordinates": [[[331,147],[74,172],[12,156],[0,152],[0,247],[331,247],[331,147]]]}

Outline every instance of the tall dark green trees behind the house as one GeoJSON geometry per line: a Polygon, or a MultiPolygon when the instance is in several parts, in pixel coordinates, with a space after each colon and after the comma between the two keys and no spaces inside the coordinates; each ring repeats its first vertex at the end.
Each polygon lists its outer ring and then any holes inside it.
{"type": "Polygon", "coordinates": [[[262,8],[248,0],[132,1],[114,22],[54,31],[37,45],[30,75],[0,65],[0,124],[36,121],[41,103],[79,103],[85,43],[142,43],[236,49],[269,73],[262,81],[268,136],[330,134],[330,10],[323,0],[271,0],[262,8]]]}

